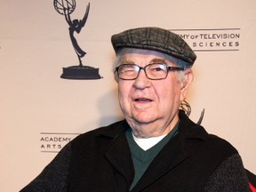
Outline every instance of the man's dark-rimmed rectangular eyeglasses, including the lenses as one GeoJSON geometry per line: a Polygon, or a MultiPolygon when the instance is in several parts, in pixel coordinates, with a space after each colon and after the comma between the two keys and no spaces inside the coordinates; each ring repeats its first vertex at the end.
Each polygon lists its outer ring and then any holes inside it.
{"type": "Polygon", "coordinates": [[[134,80],[139,76],[141,69],[145,71],[148,79],[160,80],[166,78],[169,71],[185,70],[186,68],[170,67],[164,63],[151,63],[144,68],[136,64],[122,64],[116,68],[115,72],[120,79],[134,80]]]}

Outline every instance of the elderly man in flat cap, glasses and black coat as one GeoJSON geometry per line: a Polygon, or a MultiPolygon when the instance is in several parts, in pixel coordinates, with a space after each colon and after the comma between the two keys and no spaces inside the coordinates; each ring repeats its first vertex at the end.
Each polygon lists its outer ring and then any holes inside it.
{"type": "Polygon", "coordinates": [[[196,54],[162,28],[112,36],[124,120],[69,142],[21,191],[250,191],[241,157],[179,110],[196,54]]]}

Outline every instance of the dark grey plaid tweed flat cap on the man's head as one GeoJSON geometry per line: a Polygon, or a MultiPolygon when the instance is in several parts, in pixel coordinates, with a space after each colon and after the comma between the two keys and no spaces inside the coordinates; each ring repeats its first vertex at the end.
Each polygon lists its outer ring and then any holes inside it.
{"type": "Polygon", "coordinates": [[[190,66],[196,60],[196,54],[177,34],[163,28],[132,28],[111,37],[115,52],[121,48],[131,47],[164,52],[180,58],[190,66]]]}

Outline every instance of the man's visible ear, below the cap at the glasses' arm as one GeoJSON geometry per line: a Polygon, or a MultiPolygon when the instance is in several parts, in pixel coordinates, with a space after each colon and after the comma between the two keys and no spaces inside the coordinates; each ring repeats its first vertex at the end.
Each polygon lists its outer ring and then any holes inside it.
{"type": "Polygon", "coordinates": [[[184,80],[180,83],[180,101],[186,100],[188,87],[194,79],[193,71],[191,68],[187,68],[184,71],[184,80]]]}

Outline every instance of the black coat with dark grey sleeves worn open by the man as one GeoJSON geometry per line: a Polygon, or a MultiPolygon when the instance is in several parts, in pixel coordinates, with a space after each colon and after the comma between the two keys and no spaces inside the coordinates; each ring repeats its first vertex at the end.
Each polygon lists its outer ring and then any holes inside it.
{"type": "MultiPolygon", "coordinates": [[[[22,192],[128,192],[133,179],[128,127],[121,121],[78,136],[22,192]]],[[[132,189],[137,191],[244,192],[249,186],[236,149],[181,111],[178,134],[149,165],[132,189]]]]}

